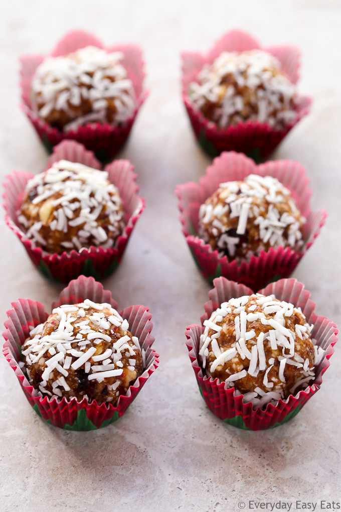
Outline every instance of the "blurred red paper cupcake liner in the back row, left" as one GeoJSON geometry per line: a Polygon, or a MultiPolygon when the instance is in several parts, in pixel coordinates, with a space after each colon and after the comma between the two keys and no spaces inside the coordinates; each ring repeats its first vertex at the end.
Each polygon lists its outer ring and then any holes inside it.
{"type": "Polygon", "coordinates": [[[66,55],[90,45],[106,49],[108,52],[120,51],[124,54],[122,65],[127,71],[128,78],[133,83],[137,99],[135,111],[125,123],[114,126],[108,123],[93,122],[79,126],[76,130],[60,132],[57,128],[40,119],[32,109],[31,82],[35,70],[46,57],[44,55],[24,55],[20,58],[21,109],[30,119],[42,143],[50,153],[53,146],[59,144],[62,140],[73,139],[82,143],[88,150],[93,151],[97,158],[105,161],[112,159],[124,145],[148,92],[143,89],[145,73],[142,50],[136,45],[116,45],[104,48],[101,41],[93,35],[82,31],[72,31],[59,41],[51,56],[66,55]]]}

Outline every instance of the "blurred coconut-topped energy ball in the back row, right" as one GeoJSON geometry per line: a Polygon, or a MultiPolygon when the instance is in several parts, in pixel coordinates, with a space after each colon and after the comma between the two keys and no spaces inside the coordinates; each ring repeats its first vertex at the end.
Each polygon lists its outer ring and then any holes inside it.
{"type": "Polygon", "coordinates": [[[223,52],[197,79],[190,99],[220,128],[251,119],[282,129],[297,119],[296,88],[270,53],[223,52]]]}

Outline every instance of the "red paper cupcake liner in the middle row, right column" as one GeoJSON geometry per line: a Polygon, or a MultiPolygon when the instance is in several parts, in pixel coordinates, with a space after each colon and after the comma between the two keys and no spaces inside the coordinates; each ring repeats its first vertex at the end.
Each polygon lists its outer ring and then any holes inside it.
{"type": "Polygon", "coordinates": [[[178,207],[183,233],[204,278],[212,282],[214,278],[223,275],[258,290],[270,281],[289,277],[320,233],[327,217],[324,210],[311,211],[312,191],[308,185],[306,169],[298,162],[276,160],[256,165],[253,160],[234,151],[222,153],[220,157],[215,158],[199,183],[177,185],[176,194],[179,198],[178,207]],[[220,183],[243,180],[250,174],[277,178],[291,191],[301,214],[307,220],[304,225],[304,245],[300,251],[290,247],[271,247],[268,251],[261,251],[259,256],[252,256],[248,263],[242,262],[238,265],[236,261],[229,263],[226,256],[219,258],[218,251],[213,251],[209,244],[198,237],[200,205],[213,194],[220,183]]]}

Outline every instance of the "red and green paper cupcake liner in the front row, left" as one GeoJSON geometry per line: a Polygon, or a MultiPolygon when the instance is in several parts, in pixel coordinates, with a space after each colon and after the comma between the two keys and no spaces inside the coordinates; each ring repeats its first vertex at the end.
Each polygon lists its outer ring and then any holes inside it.
{"type": "MultiPolygon", "coordinates": [[[[61,304],[76,304],[89,298],[94,302],[107,302],[117,309],[117,303],[108,290],[96,282],[94,278],[81,275],[72,281],[61,292],[59,301],[52,304],[52,309],[61,304]]],[[[145,351],[145,367],[142,375],[129,387],[125,395],[121,395],[116,406],[111,403],[98,404],[96,400],[89,402],[87,398],[78,401],[76,398],[61,400],[56,397],[42,397],[29,383],[26,375],[19,368],[21,346],[29,336],[30,330],[46,321],[48,313],[39,302],[30,299],[19,299],[12,303],[12,309],[7,311],[8,320],[5,322],[6,331],[3,333],[5,344],[4,355],[17,376],[21,389],[33,409],[45,421],[66,430],[96,430],[119,419],[133,399],[140,392],[146,380],[158,366],[158,354],[151,348],[154,337],[150,334],[153,324],[151,313],[145,306],[130,306],[120,312],[129,322],[129,331],[138,336],[141,349],[145,351]]]]}

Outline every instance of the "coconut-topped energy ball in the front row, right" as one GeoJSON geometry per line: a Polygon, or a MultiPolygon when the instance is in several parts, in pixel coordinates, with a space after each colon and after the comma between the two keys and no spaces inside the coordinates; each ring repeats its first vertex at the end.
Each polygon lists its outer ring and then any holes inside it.
{"type": "Polygon", "coordinates": [[[324,353],[301,309],[275,295],[232,298],[203,325],[203,368],[255,407],[305,389],[324,353]]]}

